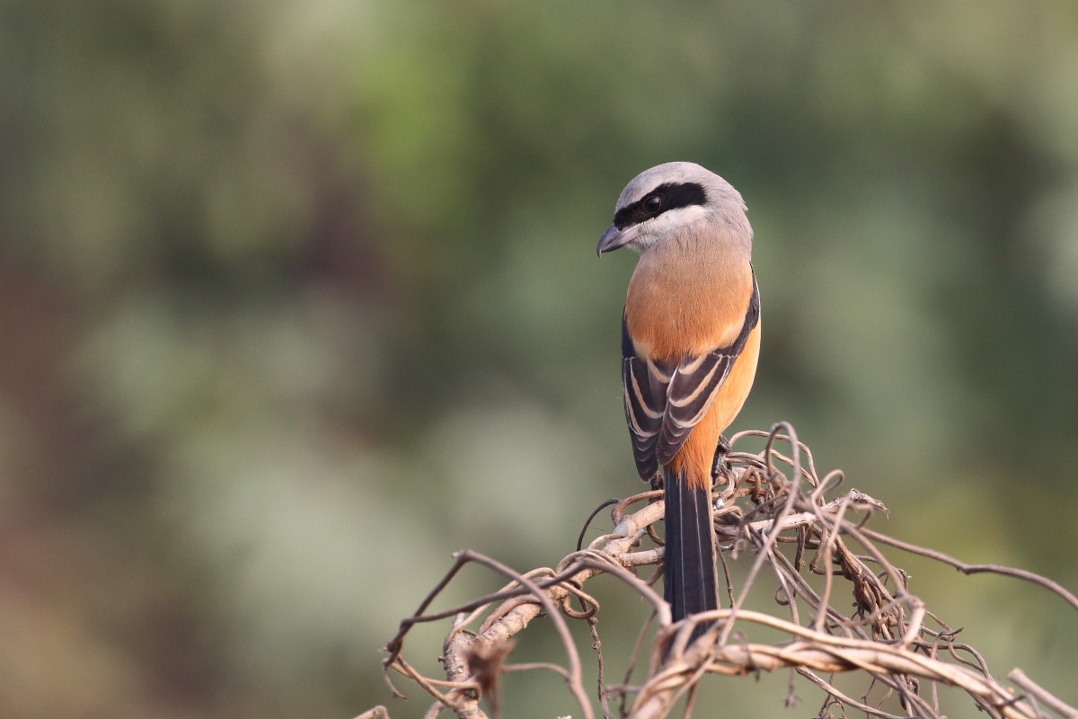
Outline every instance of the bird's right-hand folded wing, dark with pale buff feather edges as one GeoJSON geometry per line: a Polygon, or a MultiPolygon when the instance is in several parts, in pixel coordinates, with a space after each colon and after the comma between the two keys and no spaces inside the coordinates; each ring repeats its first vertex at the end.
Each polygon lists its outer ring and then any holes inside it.
{"type": "MultiPolygon", "coordinates": [[[[760,320],[760,292],[752,275],[752,295],[737,337],[725,347],[718,347],[699,357],[682,360],[666,384],[662,426],[652,434],[650,448],[654,460],[665,465],[674,458],[704,414],[710,409],[719,388],[745,348],[748,335],[760,320]]],[[[635,447],[634,442],[634,447],[635,447]]],[[[639,460],[637,460],[639,466],[639,460]]]]}

